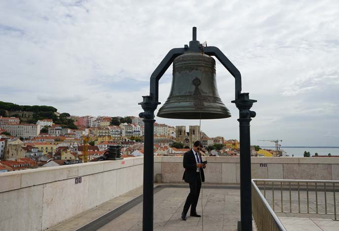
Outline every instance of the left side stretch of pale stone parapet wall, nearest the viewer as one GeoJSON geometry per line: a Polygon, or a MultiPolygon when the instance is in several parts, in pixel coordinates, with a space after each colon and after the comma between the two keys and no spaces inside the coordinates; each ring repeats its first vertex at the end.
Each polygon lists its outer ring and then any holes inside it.
{"type": "Polygon", "coordinates": [[[1,173],[0,230],[51,228],[142,186],[142,172],[135,157],[1,173]]]}

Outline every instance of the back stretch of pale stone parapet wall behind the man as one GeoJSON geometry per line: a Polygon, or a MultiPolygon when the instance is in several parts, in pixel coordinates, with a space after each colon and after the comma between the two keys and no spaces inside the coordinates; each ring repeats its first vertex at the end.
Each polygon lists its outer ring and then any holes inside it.
{"type": "MultiPolygon", "coordinates": [[[[181,156],[155,156],[154,176],[162,182],[183,182],[181,156]]],[[[239,157],[203,157],[205,182],[240,183],[239,157]]],[[[252,179],[339,180],[339,158],[335,157],[251,157],[252,179]]]]}

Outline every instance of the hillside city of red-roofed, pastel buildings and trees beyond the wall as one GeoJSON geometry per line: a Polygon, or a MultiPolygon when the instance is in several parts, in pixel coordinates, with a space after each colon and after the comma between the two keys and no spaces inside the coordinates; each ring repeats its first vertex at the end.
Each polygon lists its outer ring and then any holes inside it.
{"type": "MultiPolygon", "coordinates": [[[[0,102],[0,170],[48,167],[102,160],[109,146],[121,157],[143,156],[144,123],[136,116],[71,116],[49,106],[0,102]]],[[[195,126],[154,124],[154,155],[181,156],[200,140],[205,156],[239,156],[239,142],[209,137],[195,126]]],[[[251,149],[253,156],[280,152],[251,149]]]]}

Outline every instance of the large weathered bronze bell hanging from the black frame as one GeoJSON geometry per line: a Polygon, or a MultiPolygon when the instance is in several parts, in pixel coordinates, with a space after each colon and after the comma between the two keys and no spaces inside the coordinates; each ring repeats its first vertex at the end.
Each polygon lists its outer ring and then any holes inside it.
{"type": "Polygon", "coordinates": [[[170,96],[157,116],[180,119],[231,117],[219,97],[212,57],[185,52],[174,59],[170,96]]]}

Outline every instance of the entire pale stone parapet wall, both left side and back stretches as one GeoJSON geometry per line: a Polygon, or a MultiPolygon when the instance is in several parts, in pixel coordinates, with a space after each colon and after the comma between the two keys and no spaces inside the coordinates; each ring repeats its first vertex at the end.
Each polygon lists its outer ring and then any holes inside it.
{"type": "MultiPolygon", "coordinates": [[[[154,156],[154,177],[182,183],[182,160],[154,156]]],[[[203,160],[206,183],[240,183],[239,157],[203,160]]],[[[335,157],[252,157],[251,168],[257,179],[339,180],[335,157]]],[[[44,231],[142,183],[143,157],[0,173],[0,230],[44,231]]]]}

